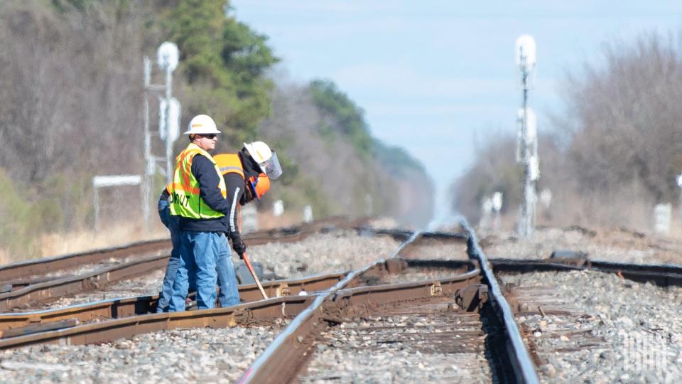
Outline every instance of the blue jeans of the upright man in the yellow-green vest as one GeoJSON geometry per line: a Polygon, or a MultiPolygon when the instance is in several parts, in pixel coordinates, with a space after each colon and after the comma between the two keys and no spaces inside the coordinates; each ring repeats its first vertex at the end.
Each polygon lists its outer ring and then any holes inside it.
{"type": "Polygon", "coordinates": [[[223,233],[180,233],[180,265],[173,281],[169,312],[185,310],[185,297],[192,279],[197,282],[197,309],[215,307],[215,267],[225,242],[223,233]]]}

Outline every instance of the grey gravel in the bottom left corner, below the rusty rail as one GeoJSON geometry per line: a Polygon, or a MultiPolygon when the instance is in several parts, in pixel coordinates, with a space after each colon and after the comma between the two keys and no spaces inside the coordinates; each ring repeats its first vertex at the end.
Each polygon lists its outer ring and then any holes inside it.
{"type": "Polygon", "coordinates": [[[0,351],[0,382],[234,383],[286,324],[175,329],[102,345],[0,351]]]}

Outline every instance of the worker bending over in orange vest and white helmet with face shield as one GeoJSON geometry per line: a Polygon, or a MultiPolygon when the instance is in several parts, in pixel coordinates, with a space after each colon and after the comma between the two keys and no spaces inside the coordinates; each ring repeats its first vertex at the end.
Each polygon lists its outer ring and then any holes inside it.
{"type": "MultiPolygon", "coordinates": [[[[244,258],[247,246],[241,235],[241,207],[251,201],[260,200],[270,188],[270,178],[265,173],[269,170],[273,178],[281,175],[281,166],[270,147],[264,142],[244,144],[237,154],[219,154],[214,157],[225,180],[227,201],[230,204],[229,215],[225,216],[227,235],[232,240],[232,247],[240,258],[244,258]],[[251,156],[247,149],[251,148],[256,156],[251,156]],[[268,163],[269,164],[265,164],[268,163]],[[261,164],[264,164],[261,167],[261,164]]],[[[220,294],[220,306],[239,304],[237,277],[230,257],[229,245],[223,248],[224,253],[218,257],[217,274],[220,294]]]]}

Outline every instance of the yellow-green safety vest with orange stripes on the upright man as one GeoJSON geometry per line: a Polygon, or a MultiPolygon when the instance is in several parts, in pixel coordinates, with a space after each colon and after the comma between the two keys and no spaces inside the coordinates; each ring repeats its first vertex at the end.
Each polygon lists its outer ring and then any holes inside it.
{"type": "Polygon", "coordinates": [[[192,160],[197,154],[201,154],[211,161],[219,178],[217,187],[220,188],[223,198],[227,196],[225,180],[222,178],[215,160],[200,146],[190,143],[175,159],[175,172],[170,189],[171,197],[168,198],[171,215],[193,219],[221,218],[224,214],[213,210],[199,195],[199,181],[192,174],[192,160]]]}

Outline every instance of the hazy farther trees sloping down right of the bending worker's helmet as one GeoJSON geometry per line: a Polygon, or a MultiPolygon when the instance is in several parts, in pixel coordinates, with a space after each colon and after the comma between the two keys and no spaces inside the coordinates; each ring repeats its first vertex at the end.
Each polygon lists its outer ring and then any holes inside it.
{"type": "Polygon", "coordinates": [[[362,110],[332,82],[279,85],[261,132],[296,164],[285,203],[313,202],[320,215],[391,215],[412,225],[431,218],[433,184],[421,164],[374,139],[362,110]]]}

